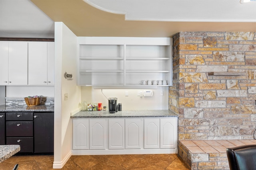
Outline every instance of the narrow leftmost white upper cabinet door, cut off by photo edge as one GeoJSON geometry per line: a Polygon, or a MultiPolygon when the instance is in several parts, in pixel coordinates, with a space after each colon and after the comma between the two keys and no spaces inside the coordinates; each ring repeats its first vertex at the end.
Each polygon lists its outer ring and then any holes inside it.
{"type": "Polygon", "coordinates": [[[8,84],[8,52],[9,43],[0,41],[0,85],[8,84]]]}

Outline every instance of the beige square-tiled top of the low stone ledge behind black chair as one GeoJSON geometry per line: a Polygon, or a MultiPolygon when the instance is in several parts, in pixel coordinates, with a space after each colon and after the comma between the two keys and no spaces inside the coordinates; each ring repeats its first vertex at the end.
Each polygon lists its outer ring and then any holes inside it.
{"type": "Polygon", "coordinates": [[[226,148],[239,145],[255,145],[256,140],[205,140],[180,141],[191,153],[226,153],[226,148]]]}

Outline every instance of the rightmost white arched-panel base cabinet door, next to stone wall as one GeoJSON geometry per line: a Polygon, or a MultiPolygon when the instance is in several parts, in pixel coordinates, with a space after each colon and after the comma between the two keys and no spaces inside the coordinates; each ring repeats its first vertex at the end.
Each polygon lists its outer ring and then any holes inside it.
{"type": "Polygon", "coordinates": [[[177,148],[177,118],[160,119],[160,148],[177,148]]]}

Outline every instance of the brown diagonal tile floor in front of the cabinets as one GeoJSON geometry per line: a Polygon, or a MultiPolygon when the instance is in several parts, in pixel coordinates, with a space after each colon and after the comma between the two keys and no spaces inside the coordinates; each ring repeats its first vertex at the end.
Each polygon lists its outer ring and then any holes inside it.
{"type": "MultiPolygon", "coordinates": [[[[53,170],[53,155],[12,156],[0,170],[53,170]]],[[[73,155],[62,170],[189,170],[177,154],[73,155]]]]}

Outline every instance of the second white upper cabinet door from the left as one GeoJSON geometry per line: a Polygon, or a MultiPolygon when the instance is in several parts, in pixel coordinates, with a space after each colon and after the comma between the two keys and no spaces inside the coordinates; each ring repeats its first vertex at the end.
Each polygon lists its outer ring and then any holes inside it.
{"type": "Polygon", "coordinates": [[[8,84],[28,84],[28,42],[9,42],[8,84]]]}

